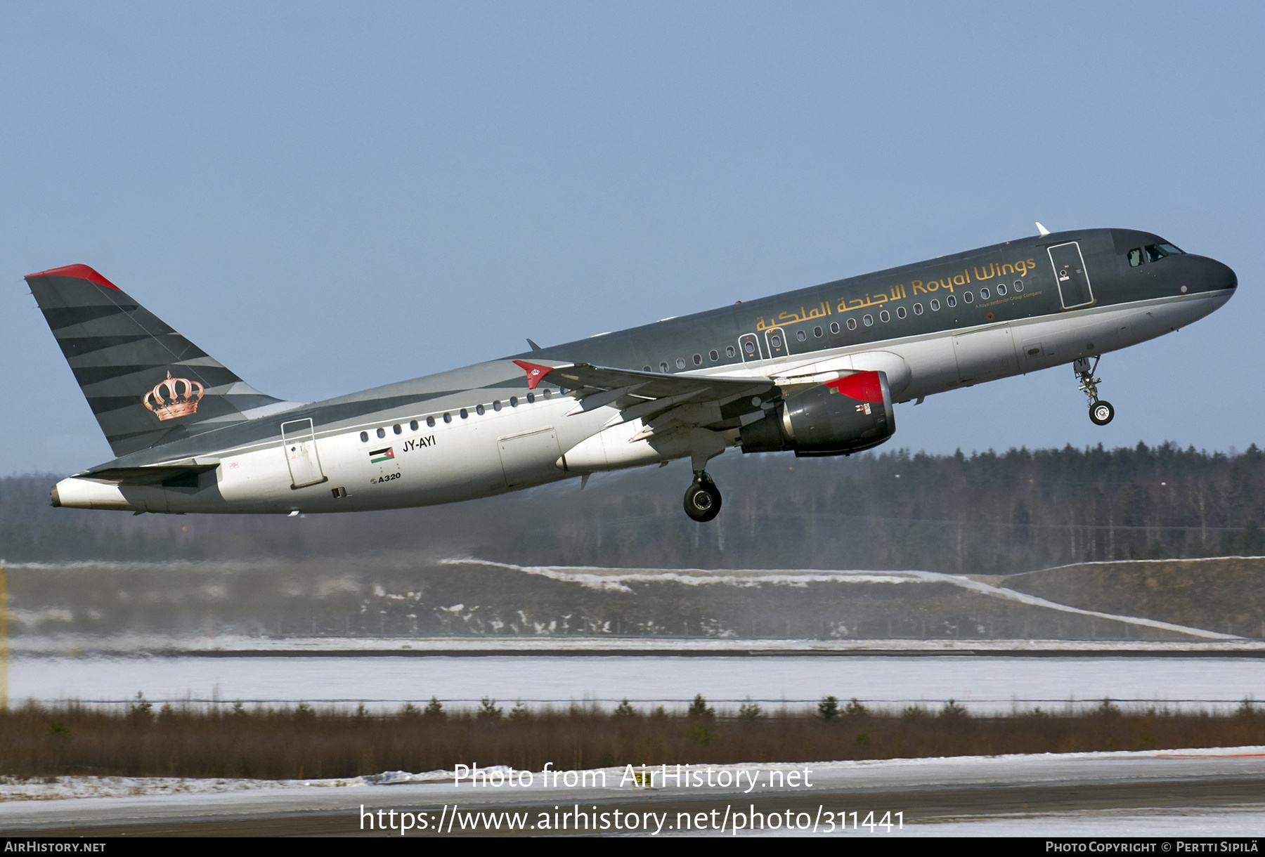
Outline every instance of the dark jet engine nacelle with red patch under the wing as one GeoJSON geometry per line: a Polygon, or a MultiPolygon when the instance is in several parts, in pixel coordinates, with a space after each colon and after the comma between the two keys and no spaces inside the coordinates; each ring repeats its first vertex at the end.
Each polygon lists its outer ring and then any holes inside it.
{"type": "Polygon", "coordinates": [[[743,451],[849,455],[878,446],[893,432],[887,373],[854,372],[787,394],[763,420],[743,427],[743,451]]]}

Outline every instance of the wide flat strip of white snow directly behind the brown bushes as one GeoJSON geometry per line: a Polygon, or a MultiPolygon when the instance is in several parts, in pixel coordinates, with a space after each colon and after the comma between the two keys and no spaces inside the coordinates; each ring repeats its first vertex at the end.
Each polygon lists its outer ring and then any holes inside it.
{"type": "MultiPolygon", "coordinates": [[[[1216,645],[1216,643],[1213,643],[1216,645]]],[[[438,696],[473,707],[483,696],[529,707],[593,703],[683,707],[703,694],[722,709],[750,698],[768,708],[825,695],[870,705],[939,707],[953,698],[977,714],[1061,710],[1109,696],[1136,707],[1227,710],[1265,700],[1255,657],[988,655],[815,655],[763,657],[486,656],[28,656],[9,666],[13,703],[83,700],[329,703],[388,710],[438,696]]]]}

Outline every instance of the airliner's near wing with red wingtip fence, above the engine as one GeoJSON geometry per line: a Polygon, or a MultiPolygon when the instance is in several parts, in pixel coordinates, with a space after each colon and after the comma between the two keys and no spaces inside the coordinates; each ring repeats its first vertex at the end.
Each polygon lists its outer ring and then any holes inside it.
{"type": "Polygon", "coordinates": [[[568,416],[608,404],[619,408],[620,413],[607,425],[643,418],[648,428],[653,422],[662,430],[668,427],[662,417],[670,417],[676,425],[721,427],[730,420],[737,425],[740,413],[759,412],[762,399],[777,394],[772,378],[673,375],[588,363],[557,367],[526,360],[514,363],[528,373],[529,388],[535,389],[548,380],[579,399],[568,416]]]}

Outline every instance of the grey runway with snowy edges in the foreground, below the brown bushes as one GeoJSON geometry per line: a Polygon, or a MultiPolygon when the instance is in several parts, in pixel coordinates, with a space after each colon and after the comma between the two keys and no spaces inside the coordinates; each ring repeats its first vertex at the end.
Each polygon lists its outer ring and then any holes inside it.
{"type": "MultiPolygon", "coordinates": [[[[625,769],[606,769],[606,787],[595,786],[592,774],[587,785],[574,787],[562,780],[541,784],[540,772],[524,787],[457,786],[435,774],[431,779],[436,781],[400,785],[355,780],[234,789],[224,782],[234,790],[6,801],[0,803],[0,833],[1233,837],[1259,832],[1265,820],[1265,747],[696,770],[700,776],[710,772],[716,785],[683,787],[682,780],[673,782],[669,776],[667,784],[655,779],[655,787],[636,787],[625,769]],[[739,770],[745,771],[740,785],[719,785],[725,779],[722,771],[730,772],[732,782],[739,770]],[[381,815],[378,810],[383,810],[381,815]],[[395,817],[387,815],[391,810],[395,817]],[[396,823],[402,822],[401,813],[412,818],[412,829],[405,833],[396,823]],[[891,829],[865,824],[884,815],[891,829]],[[498,829],[491,827],[490,818],[500,819],[498,829]],[[616,818],[635,818],[638,824],[611,824],[616,818]],[[846,832],[840,829],[840,818],[846,832]],[[379,829],[378,819],[391,822],[388,829],[379,829]]],[[[684,782],[689,782],[688,776],[684,782]]]]}

